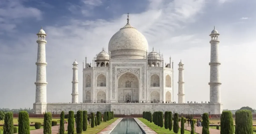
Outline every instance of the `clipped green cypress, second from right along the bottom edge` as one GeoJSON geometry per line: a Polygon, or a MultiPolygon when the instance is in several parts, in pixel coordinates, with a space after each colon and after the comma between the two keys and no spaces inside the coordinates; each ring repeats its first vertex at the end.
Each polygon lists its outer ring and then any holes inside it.
{"type": "Polygon", "coordinates": [[[223,111],[221,114],[220,134],[234,134],[234,121],[231,111],[223,111]]]}

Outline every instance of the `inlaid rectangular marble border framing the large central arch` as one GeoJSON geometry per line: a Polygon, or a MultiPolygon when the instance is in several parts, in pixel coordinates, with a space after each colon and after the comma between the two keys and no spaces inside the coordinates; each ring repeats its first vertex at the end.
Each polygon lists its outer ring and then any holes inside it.
{"type": "Polygon", "coordinates": [[[112,64],[112,99],[115,99],[115,67],[116,66],[141,66],[142,67],[142,99],[145,98],[145,86],[144,86],[144,83],[145,83],[145,64],[112,64]]]}

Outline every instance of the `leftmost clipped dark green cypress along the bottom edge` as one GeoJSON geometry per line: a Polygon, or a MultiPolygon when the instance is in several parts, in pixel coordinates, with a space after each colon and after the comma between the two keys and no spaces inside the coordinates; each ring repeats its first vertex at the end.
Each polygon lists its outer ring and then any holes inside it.
{"type": "Polygon", "coordinates": [[[6,112],[4,117],[4,134],[13,134],[14,126],[13,126],[13,113],[6,112]]]}

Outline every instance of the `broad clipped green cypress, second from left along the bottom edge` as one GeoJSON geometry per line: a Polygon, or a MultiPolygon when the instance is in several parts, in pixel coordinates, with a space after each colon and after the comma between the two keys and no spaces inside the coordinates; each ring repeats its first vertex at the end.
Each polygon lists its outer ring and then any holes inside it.
{"type": "Polygon", "coordinates": [[[18,133],[19,134],[24,134],[24,133],[30,134],[28,112],[20,111],[18,120],[19,120],[18,133]]]}

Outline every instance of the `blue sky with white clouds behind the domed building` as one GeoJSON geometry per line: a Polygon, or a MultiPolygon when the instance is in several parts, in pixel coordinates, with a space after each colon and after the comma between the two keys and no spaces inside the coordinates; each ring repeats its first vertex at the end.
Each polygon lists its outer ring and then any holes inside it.
{"type": "MultiPolygon", "coordinates": [[[[178,101],[178,63],[184,65],[185,102],[209,101],[210,36],[219,31],[221,102],[224,109],[256,108],[256,8],[254,0],[0,0],[1,108],[33,108],[37,32],[47,37],[47,102],[71,102],[72,63],[99,53],[121,27],[130,24],[149,49],[174,62],[174,100],[178,101]],[[4,101],[4,102],[3,102],[4,101]]],[[[150,51],[149,50],[149,51],[150,51]]]]}

